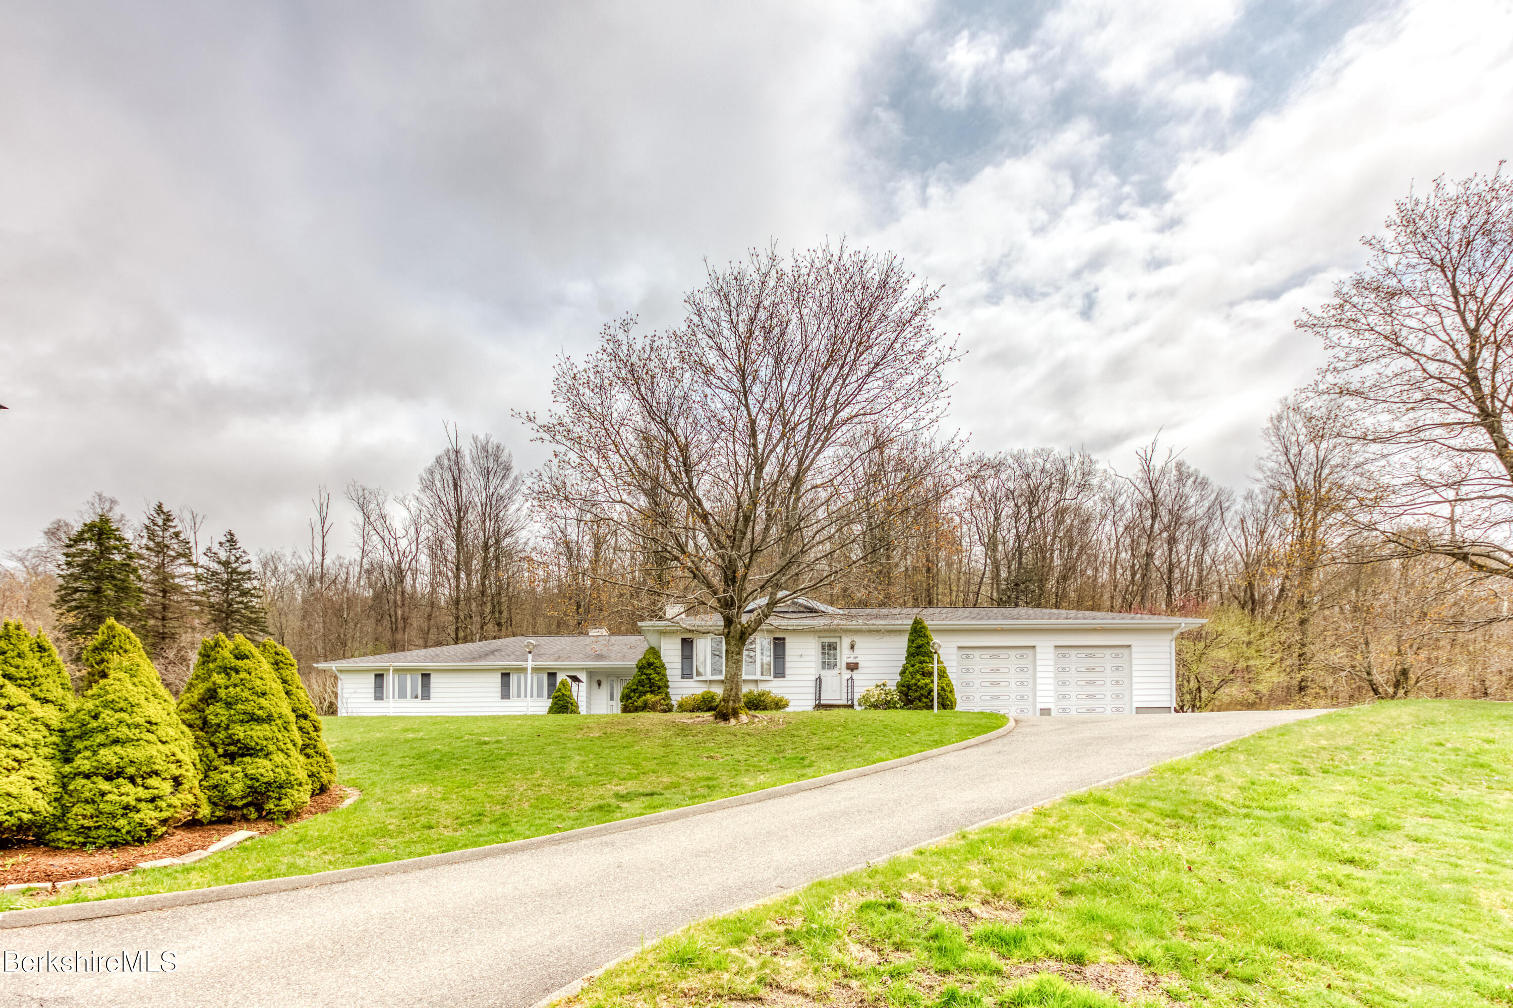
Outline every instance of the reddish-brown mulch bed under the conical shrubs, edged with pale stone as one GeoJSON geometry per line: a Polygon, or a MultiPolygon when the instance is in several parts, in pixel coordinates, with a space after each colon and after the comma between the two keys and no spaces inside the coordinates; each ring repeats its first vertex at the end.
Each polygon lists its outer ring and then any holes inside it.
{"type": "Polygon", "coordinates": [[[356,793],[340,784],[324,795],[316,795],[310,804],[294,818],[283,822],[272,819],[239,819],[236,822],[206,822],[174,827],[162,837],[142,846],[97,848],[94,851],[41,846],[29,840],[0,840],[0,886],[12,883],[62,883],[70,878],[89,878],[124,872],[142,861],[179,857],[200,851],[238,830],[253,830],[260,834],[277,833],[292,822],[330,812],[356,793]]]}

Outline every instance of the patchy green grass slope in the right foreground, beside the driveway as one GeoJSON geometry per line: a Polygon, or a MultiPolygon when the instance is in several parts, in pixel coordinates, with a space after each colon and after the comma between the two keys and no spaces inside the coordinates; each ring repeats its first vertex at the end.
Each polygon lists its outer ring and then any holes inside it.
{"type": "Polygon", "coordinates": [[[1272,728],[702,922],[569,1003],[1508,1005],[1510,754],[1493,703],[1272,728]]]}

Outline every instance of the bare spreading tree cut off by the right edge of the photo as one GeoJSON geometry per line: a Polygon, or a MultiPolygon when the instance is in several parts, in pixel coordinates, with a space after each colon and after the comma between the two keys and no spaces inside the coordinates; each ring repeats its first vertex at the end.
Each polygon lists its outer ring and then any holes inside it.
{"type": "Polygon", "coordinates": [[[1363,524],[1513,577],[1513,180],[1436,178],[1363,243],[1366,267],[1298,320],[1328,354],[1315,393],[1389,491],[1363,524]]]}

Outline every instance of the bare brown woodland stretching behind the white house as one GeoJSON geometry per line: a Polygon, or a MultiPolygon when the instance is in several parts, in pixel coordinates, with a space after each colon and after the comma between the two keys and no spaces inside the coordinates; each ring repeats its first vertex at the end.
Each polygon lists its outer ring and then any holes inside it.
{"type": "MultiPolygon", "coordinates": [[[[1129,472],[1076,452],[894,447],[940,478],[914,506],[858,508],[865,559],[820,589],[837,606],[1030,606],[1207,617],[1179,642],[1189,710],[1390,697],[1513,697],[1505,579],[1452,559],[1380,556],[1348,441],[1283,404],[1242,493],[1151,443],[1129,472]]],[[[634,633],[664,573],[613,526],[533,506],[490,437],[452,435],[413,488],[319,491],[301,546],[256,558],[266,626],[334,713],[313,662],[511,635],[634,633]],[[645,580],[645,583],[642,583],[645,580]]],[[[56,536],[54,536],[56,538],[56,536]]],[[[0,615],[51,629],[56,544],[15,553],[0,615]]],[[[188,671],[191,641],[177,647],[188,671]]],[[[174,663],[168,662],[168,668],[174,663]]],[[[165,679],[171,673],[165,668],[165,679]]]]}

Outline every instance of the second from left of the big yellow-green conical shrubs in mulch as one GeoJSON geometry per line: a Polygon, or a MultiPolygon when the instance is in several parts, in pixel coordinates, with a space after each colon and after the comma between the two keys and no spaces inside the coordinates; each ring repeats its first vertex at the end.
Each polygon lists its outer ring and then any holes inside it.
{"type": "Polygon", "coordinates": [[[194,737],[157,671],[113,654],[103,673],[59,731],[51,846],[150,843],[203,812],[194,737]]]}

